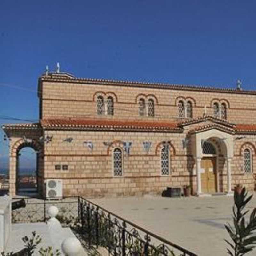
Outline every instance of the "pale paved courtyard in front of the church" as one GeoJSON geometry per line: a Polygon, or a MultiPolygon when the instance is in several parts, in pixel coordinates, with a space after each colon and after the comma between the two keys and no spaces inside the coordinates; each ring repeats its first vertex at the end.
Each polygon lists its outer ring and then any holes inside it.
{"type": "MultiPolygon", "coordinates": [[[[103,208],[198,255],[228,255],[224,224],[231,223],[233,196],[93,199],[103,208]]],[[[256,207],[256,195],[249,209],[256,207]]],[[[251,211],[250,211],[251,213],[251,211]]],[[[256,249],[246,255],[255,255],[256,249]]]]}

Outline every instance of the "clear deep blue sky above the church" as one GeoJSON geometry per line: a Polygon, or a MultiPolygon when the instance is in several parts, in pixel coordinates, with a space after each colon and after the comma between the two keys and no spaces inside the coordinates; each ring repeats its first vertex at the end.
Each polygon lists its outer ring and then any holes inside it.
{"type": "Polygon", "coordinates": [[[38,76],[56,62],[78,77],[225,88],[240,78],[255,90],[255,10],[231,0],[2,0],[0,116],[38,119],[38,76]]]}

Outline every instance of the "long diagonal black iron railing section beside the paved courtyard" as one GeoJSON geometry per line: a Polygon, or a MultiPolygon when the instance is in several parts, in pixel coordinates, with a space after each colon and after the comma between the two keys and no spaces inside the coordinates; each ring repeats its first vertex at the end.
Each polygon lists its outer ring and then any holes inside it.
{"type": "Polygon", "coordinates": [[[115,256],[196,256],[82,197],[78,201],[81,235],[89,248],[104,247],[115,256]]]}

